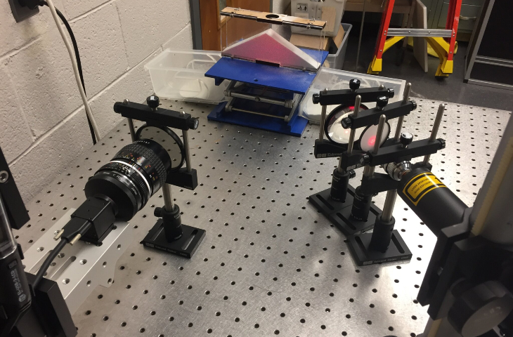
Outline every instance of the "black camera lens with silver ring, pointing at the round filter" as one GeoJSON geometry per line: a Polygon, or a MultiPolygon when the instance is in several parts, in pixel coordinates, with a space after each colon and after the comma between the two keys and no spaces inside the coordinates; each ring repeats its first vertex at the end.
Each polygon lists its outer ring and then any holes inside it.
{"type": "Polygon", "coordinates": [[[115,204],[116,218],[128,221],[166,182],[171,159],[159,143],[136,140],[126,145],[86,183],[86,197],[103,197],[115,204]]]}

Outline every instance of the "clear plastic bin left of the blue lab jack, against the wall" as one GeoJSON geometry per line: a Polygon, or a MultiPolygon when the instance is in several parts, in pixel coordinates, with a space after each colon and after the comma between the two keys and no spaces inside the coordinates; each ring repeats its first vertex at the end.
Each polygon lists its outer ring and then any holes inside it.
{"type": "Polygon", "coordinates": [[[219,103],[228,81],[216,86],[204,73],[219,59],[212,51],[171,51],[166,49],[144,67],[150,71],[155,95],[188,102],[219,103]]]}

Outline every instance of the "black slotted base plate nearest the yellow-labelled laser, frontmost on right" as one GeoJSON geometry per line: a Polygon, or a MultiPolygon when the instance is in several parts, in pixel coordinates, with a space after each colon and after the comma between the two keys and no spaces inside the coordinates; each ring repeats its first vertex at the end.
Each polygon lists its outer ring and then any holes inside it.
{"type": "Polygon", "coordinates": [[[373,265],[375,263],[411,260],[412,253],[397,230],[394,230],[392,233],[389,249],[384,253],[381,251],[370,251],[368,249],[371,237],[372,233],[364,233],[351,235],[347,238],[349,250],[351,250],[357,265],[373,265]]]}

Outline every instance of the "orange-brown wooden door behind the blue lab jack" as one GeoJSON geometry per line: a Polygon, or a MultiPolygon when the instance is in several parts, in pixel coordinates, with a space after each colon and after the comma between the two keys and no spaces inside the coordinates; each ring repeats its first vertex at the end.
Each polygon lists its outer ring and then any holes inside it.
{"type": "MultiPolygon", "coordinates": [[[[205,51],[221,50],[221,27],[226,24],[226,16],[221,17],[219,11],[225,6],[261,12],[271,11],[269,0],[200,0],[201,38],[205,51]]],[[[230,27],[230,30],[233,28],[238,32],[252,31],[254,23],[256,22],[252,20],[238,20],[238,27],[230,27]]]]}

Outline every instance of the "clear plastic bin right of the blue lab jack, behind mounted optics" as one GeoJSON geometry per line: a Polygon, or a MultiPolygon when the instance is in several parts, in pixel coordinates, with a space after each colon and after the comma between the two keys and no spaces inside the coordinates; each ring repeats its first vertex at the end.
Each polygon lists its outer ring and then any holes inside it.
{"type": "MultiPolygon", "coordinates": [[[[324,90],[324,88],[328,90],[349,89],[349,80],[351,79],[359,79],[361,81],[360,88],[377,87],[382,84],[386,88],[393,88],[395,95],[394,98],[389,99],[389,103],[403,99],[404,87],[406,85],[406,81],[403,79],[389,79],[387,77],[320,67],[316,79],[313,80],[309,90],[306,91],[303,100],[301,100],[299,104],[299,116],[308,119],[311,123],[320,124],[320,112],[322,108],[318,104],[313,104],[312,95],[319,93],[321,90],[324,90]]],[[[376,106],[376,103],[372,102],[362,104],[369,108],[376,106]]],[[[330,114],[335,107],[337,107],[337,105],[328,105],[326,116],[330,114]]]]}

